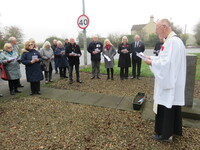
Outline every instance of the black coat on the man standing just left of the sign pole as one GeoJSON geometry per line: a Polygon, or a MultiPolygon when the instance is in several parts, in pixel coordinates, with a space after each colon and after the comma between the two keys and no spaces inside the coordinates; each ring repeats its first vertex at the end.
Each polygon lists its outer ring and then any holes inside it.
{"type": "Polygon", "coordinates": [[[66,56],[68,57],[69,65],[80,64],[79,56],[69,56],[69,53],[76,53],[82,55],[79,45],[69,44],[68,47],[66,48],[65,53],[66,56]]]}

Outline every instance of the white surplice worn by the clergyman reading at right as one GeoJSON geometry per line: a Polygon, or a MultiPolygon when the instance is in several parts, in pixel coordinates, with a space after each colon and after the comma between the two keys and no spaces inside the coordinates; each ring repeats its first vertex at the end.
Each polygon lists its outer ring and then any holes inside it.
{"type": "MultiPolygon", "coordinates": [[[[171,32],[158,56],[151,56],[155,76],[154,103],[171,108],[185,105],[186,50],[180,38],[171,32]]],[[[156,109],[154,109],[156,110],[156,109]]]]}

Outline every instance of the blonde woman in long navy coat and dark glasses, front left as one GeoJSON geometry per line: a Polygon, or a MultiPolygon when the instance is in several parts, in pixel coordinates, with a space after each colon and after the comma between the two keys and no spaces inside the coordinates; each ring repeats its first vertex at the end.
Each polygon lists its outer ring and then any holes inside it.
{"type": "Polygon", "coordinates": [[[31,85],[31,94],[40,94],[40,81],[43,80],[43,74],[40,62],[41,55],[34,48],[30,41],[25,43],[25,50],[21,57],[21,62],[26,66],[26,78],[31,85]]]}

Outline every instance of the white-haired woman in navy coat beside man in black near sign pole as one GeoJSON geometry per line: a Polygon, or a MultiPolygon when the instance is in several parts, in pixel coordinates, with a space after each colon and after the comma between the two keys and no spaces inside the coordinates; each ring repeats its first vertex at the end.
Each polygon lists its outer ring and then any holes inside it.
{"type": "Polygon", "coordinates": [[[69,64],[65,55],[65,48],[63,47],[61,41],[57,42],[57,48],[55,49],[54,56],[56,59],[56,66],[59,67],[60,78],[68,78],[66,76],[66,69],[69,64]]]}

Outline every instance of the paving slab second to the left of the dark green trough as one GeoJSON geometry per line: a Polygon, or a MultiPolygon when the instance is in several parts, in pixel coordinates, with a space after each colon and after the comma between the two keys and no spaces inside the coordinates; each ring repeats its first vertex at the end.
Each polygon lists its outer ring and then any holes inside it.
{"type": "Polygon", "coordinates": [[[104,95],[99,101],[94,103],[95,106],[117,108],[123,97],[104,95]]]}

